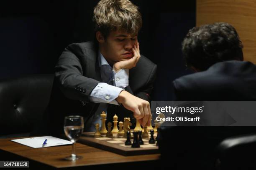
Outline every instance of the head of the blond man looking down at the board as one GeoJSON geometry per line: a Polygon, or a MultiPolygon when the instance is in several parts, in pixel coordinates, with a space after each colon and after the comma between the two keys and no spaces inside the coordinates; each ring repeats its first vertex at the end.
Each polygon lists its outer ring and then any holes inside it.
{"type": "Polygon", "coordinates": [[[93,12],[95,42],[106,60],[113,64],[133,57],[142,26],[138,7],[129,0],[101,0],[93,12]]]}

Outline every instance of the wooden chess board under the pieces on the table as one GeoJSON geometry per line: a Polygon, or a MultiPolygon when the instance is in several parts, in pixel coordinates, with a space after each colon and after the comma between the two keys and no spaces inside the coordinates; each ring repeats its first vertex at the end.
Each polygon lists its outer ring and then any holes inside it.
{"type": "MultiPolygon", "coordinates": [[[[93,135],[94,133],[83,133],[78,142],[124,156],[159,153],[158,146],[156,146],[156,144],[148,143],[148,140],[150,139],[150,133],[148,133],[149,138],[142,139],[144,145],[141,145],[140,148],[131,148],[131,145],[126,146],[124,144],[126,138],[118,137],[117,134],[113,134],[113,137],[102,136],[99,138],[95,138],[93,135]]],[[[155,133],[154,138],[156,138],[156,136],[157,134],[155,133]]],[[[131,137],[131,142],[133,142],[133,135],[131,137]]]]}

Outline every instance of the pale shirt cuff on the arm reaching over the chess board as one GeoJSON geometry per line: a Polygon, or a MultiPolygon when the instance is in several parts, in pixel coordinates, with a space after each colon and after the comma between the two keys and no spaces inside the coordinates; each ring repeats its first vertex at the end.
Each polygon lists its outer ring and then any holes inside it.
{"type": "Polygon", "coordinates": [[[91,102],[105,102],[120,105],[115,99],[119,96],[122,90],[123,89],[120,87],[115,87],[105,82],[100,82],[92,90],[89,99],[91,102]]]}

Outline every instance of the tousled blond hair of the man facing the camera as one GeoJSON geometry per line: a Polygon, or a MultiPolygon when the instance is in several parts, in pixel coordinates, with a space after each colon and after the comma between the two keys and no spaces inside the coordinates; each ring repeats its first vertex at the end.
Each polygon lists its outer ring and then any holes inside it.
{"type": "Polygon", "coordinates": [[[100,0],[93,11],[94,31],[106,38],[110,31],[137,34],[142,26],[138,7],[129,0],[100,0]]]}

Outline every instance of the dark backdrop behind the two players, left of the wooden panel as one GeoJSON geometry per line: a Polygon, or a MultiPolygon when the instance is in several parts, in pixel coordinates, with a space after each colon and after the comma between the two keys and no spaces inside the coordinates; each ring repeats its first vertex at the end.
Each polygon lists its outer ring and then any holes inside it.
{"type": "MultiPolygon", "coordinates": [[[[92,40],[98,0],[4,2],[0,6],[0,79],[53,73],[64,48],[92,40]]],[[[172,80],[189,74],[181,42],[195,26],[195,0],[132,0],[143,17],[141,54],[158,65],[152,100],[173,100],[172,80]]],[[[146,66],[145,66],[146,67],[146,66]]]]}

